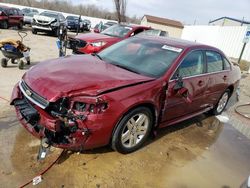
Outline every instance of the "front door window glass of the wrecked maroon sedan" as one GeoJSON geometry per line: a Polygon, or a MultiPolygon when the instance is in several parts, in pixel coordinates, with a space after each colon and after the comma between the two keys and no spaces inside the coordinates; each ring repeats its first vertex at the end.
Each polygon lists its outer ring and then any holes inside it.
{"type": "MultiPolygon", "coordinates": [[[[196,76],[204,72],[204,57],[202,51],[194,51],[181,62],[177,73],[181,77],[196,76]]],[[[175,74],[175,76],[177,76],[175,74]]]]}

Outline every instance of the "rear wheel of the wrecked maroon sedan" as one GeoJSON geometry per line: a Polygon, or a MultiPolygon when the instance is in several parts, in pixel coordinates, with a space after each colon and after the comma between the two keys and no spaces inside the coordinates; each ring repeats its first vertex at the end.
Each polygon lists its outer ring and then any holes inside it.
{"type": "Polygon", "coordinates": [[[221,114],[224,109],[226,108],[227,106],[227,103],[228,103],[228,100],[230,98],[230,90],[227,89],[220,97],[218,103],[216,104],[216,106],[212,109],[212,114],[213,115],[219,115],[221,114]]]}

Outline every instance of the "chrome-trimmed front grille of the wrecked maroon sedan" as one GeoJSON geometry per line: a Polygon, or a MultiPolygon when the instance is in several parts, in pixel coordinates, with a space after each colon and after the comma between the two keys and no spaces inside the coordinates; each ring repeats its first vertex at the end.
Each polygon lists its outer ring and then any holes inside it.
{"type": "Polygon", "coordinates": [[[49,106],[49,101],[32,91],[32,89],[24,81],[21,81],[19,83],[19,87],[27,99],[29,99],[31,102],[35,103],[42,109],[45,109],[49,106]]]}

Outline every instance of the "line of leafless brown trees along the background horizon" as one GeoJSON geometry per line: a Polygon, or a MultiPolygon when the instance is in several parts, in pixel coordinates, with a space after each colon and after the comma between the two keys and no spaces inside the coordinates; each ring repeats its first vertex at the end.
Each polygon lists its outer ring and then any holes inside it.
{"type": "MultiPolygon", "coordinates": [[[[119,21],[117,10],[111,12],[95,4],[74,5],[70,0],[0,0],[0,2],[119,21]]],[[[117,6],[115,9],[117,9],[117,6]]],[[[131,23],[140,23],[140,18],[136,15],[133,17],[126,16],[123,20],[131,23]]]]}

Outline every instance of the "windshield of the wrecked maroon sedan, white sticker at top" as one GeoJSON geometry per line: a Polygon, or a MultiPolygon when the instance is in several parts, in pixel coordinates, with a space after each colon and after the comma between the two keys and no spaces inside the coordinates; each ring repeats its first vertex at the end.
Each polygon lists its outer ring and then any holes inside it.
{"type": "Polygon", "coordinates": [[[159,78],[182,49],[154,40],[132,37],[106,48],[98,55],[105,62],[137,74],[159,78]]]}

